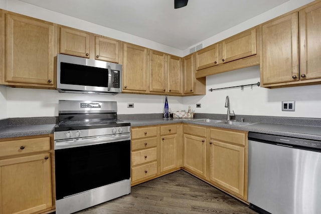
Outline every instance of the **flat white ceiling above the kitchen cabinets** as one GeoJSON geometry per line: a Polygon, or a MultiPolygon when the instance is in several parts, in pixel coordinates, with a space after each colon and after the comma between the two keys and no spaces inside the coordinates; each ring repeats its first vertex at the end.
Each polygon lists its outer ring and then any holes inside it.
{"type": "Polygon", "coordinates": [[[289,0],[20,0],[185,50],[289,0]]]}

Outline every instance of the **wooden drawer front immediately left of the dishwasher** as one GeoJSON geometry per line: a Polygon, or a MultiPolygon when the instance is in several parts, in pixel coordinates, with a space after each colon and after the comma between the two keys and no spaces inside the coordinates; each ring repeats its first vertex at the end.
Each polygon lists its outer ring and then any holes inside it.
{"type": "Polygon", "coordinates": [[[245,145],[246,140],[245,133],[219,129],[211,129],[211,139],[231,142],[243,146],[245,145]]]}

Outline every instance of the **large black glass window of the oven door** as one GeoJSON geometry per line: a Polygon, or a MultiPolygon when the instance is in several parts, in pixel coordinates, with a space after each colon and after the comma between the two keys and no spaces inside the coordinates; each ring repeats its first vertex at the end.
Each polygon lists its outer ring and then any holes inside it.
{"type": "Polygon", "coordinates": [[[55,150],[56,199],[130,178],[130,140],[55,150]]]}

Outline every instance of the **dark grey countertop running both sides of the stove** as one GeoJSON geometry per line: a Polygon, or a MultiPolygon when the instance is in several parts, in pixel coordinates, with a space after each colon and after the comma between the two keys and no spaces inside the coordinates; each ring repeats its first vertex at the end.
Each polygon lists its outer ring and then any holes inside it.
{"type": "MultiPolygon", "coordinates": [[[[199,118],[174,118],[174,119],[130,119],[124,120],[130,122],[131,127],[147,126],[147,125],[163,125],[173,123],[190,123],[197,125],[206,125],[210,127],[229,128],[250,132],[266,133],[280,136],[296,137],[303,139],[321,141],[321,127],[305,126],[305,125],[285,125],[256,122],[248,125],[228,125],[219,123],[208,123],[200,121],[199,118]]],[[[33,136],[54,133],[56,124],[32,124],[32,125],[2,125],[0,126],[0,138],[33,136]]]]}

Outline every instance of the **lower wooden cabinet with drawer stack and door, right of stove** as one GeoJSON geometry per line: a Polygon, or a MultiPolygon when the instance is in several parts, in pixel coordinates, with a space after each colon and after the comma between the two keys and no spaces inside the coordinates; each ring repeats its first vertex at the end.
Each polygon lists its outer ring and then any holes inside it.
{"type": "Polygon", "coordinates": [[[182,124],[131,128],[131,185],[182,167],[182,124]]]}

